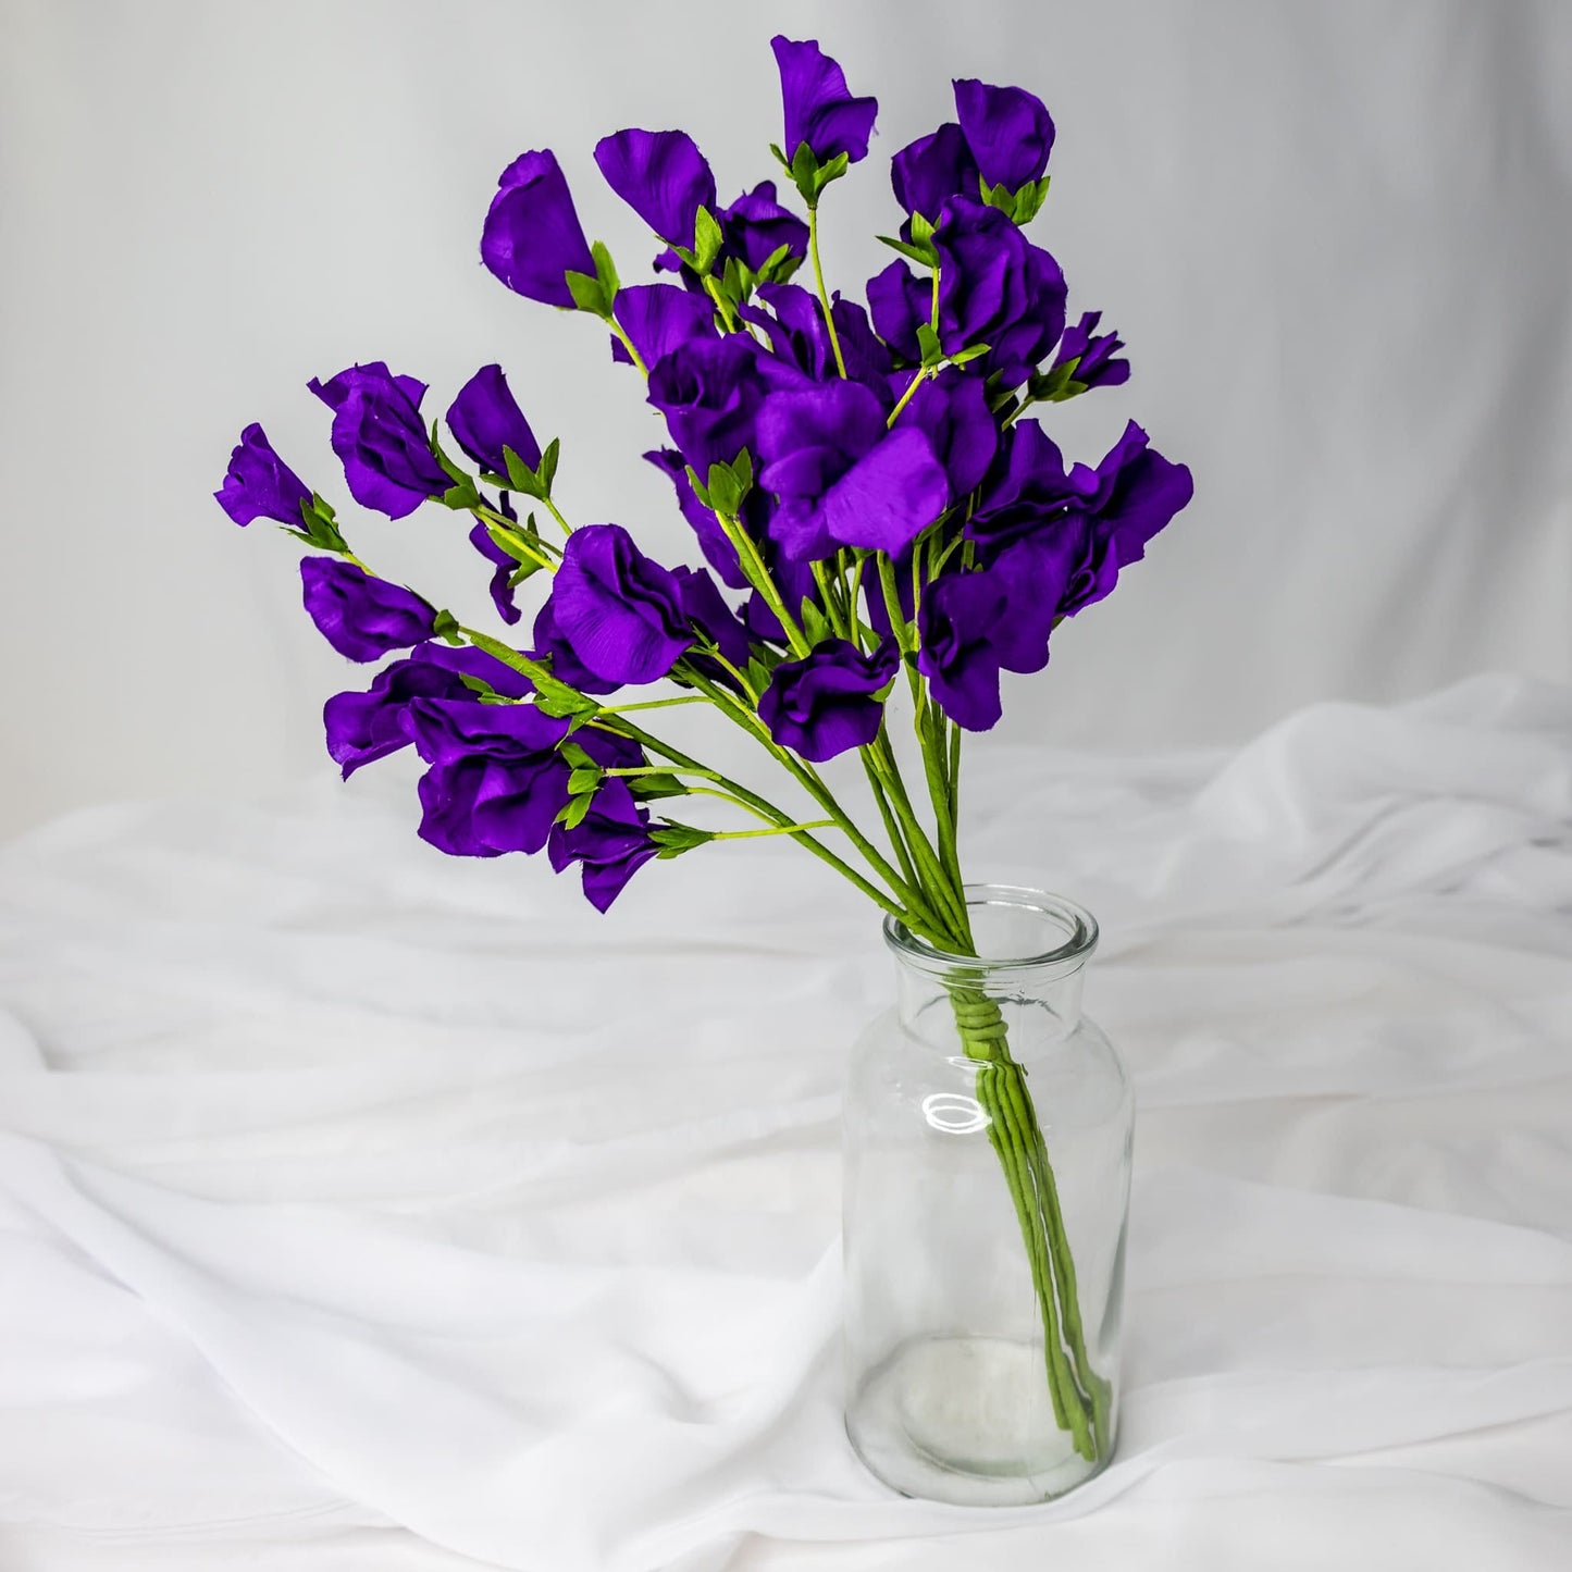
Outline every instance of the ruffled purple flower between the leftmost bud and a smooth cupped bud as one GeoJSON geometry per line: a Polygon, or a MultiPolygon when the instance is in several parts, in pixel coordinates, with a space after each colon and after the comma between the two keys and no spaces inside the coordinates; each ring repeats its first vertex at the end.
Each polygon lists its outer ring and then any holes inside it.
{"type": "Polygon", "coordinates": [[[363,508],[402,519],[453,484],[420,418],[424,382],[396,377],[374,360],[329,382],[313,377],[307,387],[333,410],[333,451],[349,494],[363,508]]]}

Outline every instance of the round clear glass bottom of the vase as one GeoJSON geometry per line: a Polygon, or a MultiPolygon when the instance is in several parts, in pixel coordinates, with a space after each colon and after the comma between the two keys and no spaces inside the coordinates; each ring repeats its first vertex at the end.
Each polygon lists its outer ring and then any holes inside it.
{"type": "Polygon", "coordinates": [[[902,1495],[956,1506],[1050,1501],[1099,1473],[1053,1420],[1041,1342],[916,1338],[854,1393],[846,1434],[902,1495]]]}

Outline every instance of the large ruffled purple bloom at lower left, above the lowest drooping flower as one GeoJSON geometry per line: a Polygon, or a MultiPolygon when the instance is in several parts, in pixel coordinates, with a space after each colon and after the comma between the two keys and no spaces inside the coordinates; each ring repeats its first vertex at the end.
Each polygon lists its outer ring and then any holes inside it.
{"type": "Polygon", "coordinates": [[[420,780],[420,836],[454,857],[538,852],[567,802],[558,755],[567,722],[534,704],[417,698],[409,728],[431,766],[420,780]]]}

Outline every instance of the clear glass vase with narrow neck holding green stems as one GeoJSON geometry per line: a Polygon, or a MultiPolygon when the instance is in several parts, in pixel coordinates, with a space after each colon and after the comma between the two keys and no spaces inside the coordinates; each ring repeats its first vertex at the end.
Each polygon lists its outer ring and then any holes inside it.
{"type": "Polygon", "coordinates": [[[846,1429],[905,1495],[1023,1504],[1113,1453],[1135,1102],[1080,1012],[1097,924],[968,885],[976,957],[885,923],[844,1126],[846,1429]]]}

